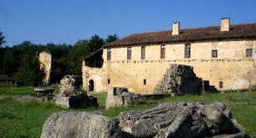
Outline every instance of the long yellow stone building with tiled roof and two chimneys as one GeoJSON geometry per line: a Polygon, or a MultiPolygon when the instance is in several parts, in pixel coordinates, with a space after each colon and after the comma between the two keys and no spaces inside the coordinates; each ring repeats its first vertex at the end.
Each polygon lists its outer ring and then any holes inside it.
{"type": "Polygon", "coordinates": [[[197,77],[219,90],[256,86],[256,23],[135,33],[82,59],[83,88],[108,86],[152,94],[170,64],[191,65],[197,77]]]}

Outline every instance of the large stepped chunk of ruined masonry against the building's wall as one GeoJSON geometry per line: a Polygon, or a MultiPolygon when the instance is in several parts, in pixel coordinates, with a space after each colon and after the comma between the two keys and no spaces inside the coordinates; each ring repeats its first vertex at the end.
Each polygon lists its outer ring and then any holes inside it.
{"type": "Polygon", "coordinates": [[[157,94],[192,94],[200,95],[202,79],[197,78],[192,66],[171,64],[164,74],[164,79],[156,84],[154,92],[157,94]]]}

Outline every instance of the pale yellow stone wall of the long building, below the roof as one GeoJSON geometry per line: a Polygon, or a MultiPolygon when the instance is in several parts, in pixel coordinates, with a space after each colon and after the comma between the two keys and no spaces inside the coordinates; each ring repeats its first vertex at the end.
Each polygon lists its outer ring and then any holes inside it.
{"type": "MultiPolygon", "coordinates": [[[[103,52],[102,90],[107,87],[126,87],[142,94],[153,93],[156,84],[170,64],[187,64],[194,67],[197,77],[209,80],[219,89],[246,89],[256,85],[255,40],[201,41],[191,43],[191,58],[184,58],[185,43],[166,43],[166,58],[160,58],[161,44],[146,45],[146,59],[141,60],[141,45],[131,48],[131,60],[126,59],[127,47],[111,49],[111,60],[103,52]],[[253,48],[253,57],[245,51],[253,48]],[[218,58],[212,58],[212,49],[218,49],[218,58]],[[108,84],[110,79],[110,84],[108,84]],[[143,84],[146,79],[146,84],[143,84]]],[[[220,89],[220,90],[223,90],[220,89]]]]}

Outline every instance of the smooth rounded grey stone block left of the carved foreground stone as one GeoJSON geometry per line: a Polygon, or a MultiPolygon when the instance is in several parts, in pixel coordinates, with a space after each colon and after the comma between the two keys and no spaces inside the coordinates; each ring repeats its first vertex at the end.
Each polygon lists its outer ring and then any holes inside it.
{"type": "Polygon", "coordinates": [[[115,120],[86,112],[59,112],[45,121],[41,138],[105,138],[119,137],[115,120]]]}

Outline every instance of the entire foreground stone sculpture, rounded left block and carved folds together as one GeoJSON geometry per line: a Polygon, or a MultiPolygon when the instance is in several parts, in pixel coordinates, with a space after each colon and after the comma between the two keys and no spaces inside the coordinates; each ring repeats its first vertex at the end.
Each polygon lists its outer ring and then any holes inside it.
{"type": "Polygon", "coordinates": [[[87,112],[59,112],[45,121],[41,138],[243,137],[243,126],[223,103],[165,103],[110,119],[87,112]]]}

